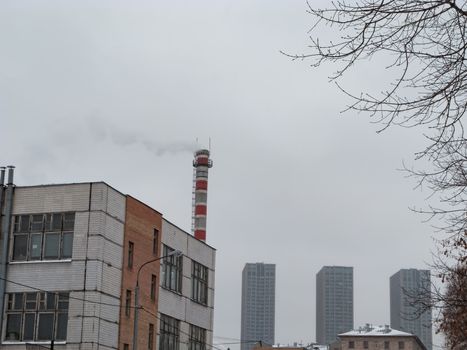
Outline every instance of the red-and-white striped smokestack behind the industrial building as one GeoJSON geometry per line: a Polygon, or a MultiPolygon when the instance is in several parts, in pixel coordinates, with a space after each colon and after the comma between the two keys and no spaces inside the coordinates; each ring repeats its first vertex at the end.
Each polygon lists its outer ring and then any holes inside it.
{"type": "Polygon", "coordinates": [[[208,170],[212,167],[209,151],[200,149],[193,160],[193,234],[200,241],[206,241],[206,216],[208,212],[208,170]]]}

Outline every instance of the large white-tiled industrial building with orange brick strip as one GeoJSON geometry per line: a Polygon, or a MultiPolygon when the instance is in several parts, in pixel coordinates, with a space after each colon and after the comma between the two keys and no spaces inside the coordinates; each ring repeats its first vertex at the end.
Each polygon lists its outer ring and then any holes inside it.
{"type": "Polygon", "coordinates": [[[173,232],[162,214],[103,182],[1,187],[2,349],[54,340],[63,350],[131,350],[138,276],[138,349],[212,343],[212,247],[178,229],[170,248],[184,255],[163,258],[173,232]],[[207,270],[193,273],[193,262],[207,270]],[[186,299],[183,315],[167,305],[159,310],[169,289],[163,278],[172,285],[174,276],[183,276],[172,293],[186,299]],[[207,297],[199,299],[195,287],[207,297]]]}

